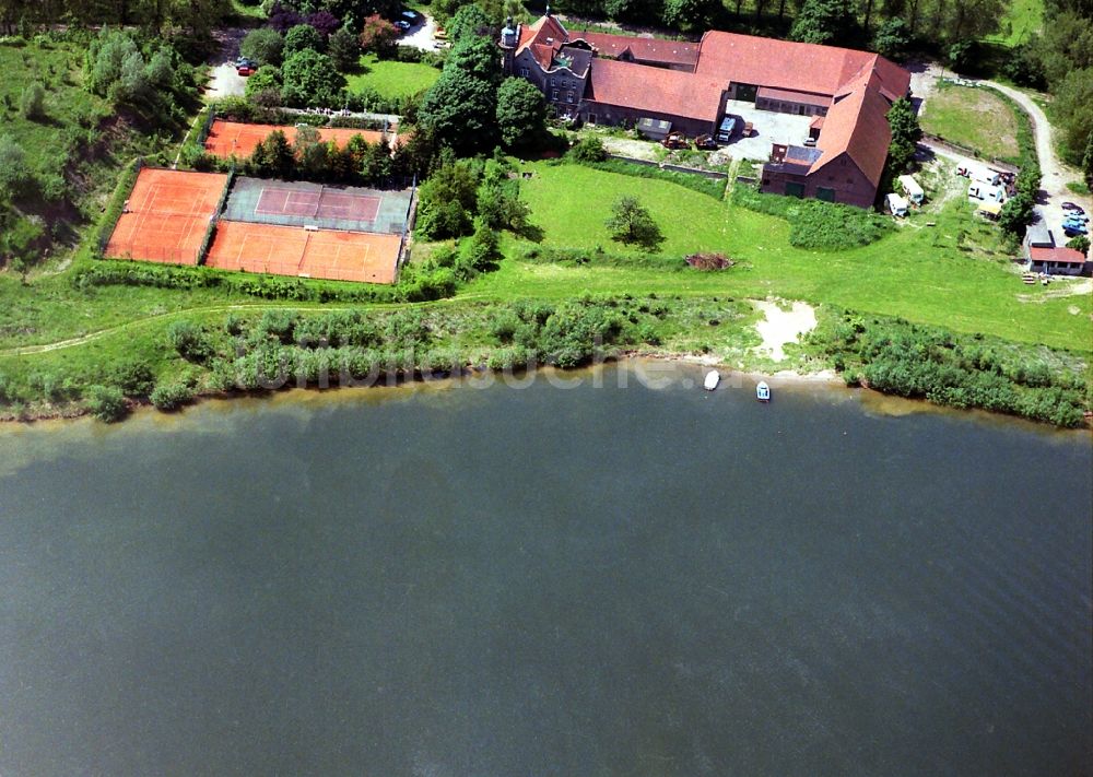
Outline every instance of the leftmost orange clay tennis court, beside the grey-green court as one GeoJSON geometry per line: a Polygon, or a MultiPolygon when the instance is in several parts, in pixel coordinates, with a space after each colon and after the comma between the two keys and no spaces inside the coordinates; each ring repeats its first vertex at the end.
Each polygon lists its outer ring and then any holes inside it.
{"type": "Polygon", "coordinates": [[[226,186],[226,175],[143,168],[105,256],[197,264],[209,220],[226,186]]]}

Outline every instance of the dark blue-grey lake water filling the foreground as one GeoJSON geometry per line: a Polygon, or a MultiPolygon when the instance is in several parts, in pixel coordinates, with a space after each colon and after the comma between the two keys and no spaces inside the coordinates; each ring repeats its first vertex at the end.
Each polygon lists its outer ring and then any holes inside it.
{"type": "Polygon", "coordinates": [[[1086,775],[1090,437],[855,395],[0,432],[0,774],[1086,775]]]}

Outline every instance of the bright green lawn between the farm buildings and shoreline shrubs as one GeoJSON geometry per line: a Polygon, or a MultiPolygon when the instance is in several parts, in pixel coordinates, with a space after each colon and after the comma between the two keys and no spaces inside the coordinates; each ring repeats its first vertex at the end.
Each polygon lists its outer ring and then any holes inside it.
{"type": "MultiPolygon", "coordinates": [[[[612,294],[776,295],[831,303],[868,313],[983,332],[1089,353],[1093,343],[1089,295],[1058,297],[1026,286],[997,245],[997,229],[973,219],[963,202],[913,217],[895,234],[863,248],[808,251],[788,243],[788,224],[734,208],[673,184],[576,165],[534,163],[521,181],[543,245],[633,254],[612,243],[603,222],[611,204],[635,195],[665,234],[663,254],[716,250],[740,262],[716,273],[656,269],[505,262],[466,294],[497,299],[612,294]],[[926,226],[933,221],[936,226],[926,226]],[[962,239],[962,232],[966,232],[962,239]],[[963,245],[959,247],[959,243],[963,245]],[[984,249],[969,249],[974,244],[984,249]],[[1077,313],[1076,313],[1077,311],[1077,313]]],[[[510,246],[519,254],[530,244],[510,246]]]]}

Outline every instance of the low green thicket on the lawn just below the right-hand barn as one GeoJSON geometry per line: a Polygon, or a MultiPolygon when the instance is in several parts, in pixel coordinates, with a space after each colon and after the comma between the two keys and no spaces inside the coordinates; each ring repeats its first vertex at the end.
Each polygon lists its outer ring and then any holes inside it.
{"type": "Polygon", "coordinates": [[[732,190],[732,202],[788,221],[789,243],[797,248],[842,250],[867,246],[891,228],[888,219],[861,208],[763,195],[753,187],[737,186],[732,190]]]}

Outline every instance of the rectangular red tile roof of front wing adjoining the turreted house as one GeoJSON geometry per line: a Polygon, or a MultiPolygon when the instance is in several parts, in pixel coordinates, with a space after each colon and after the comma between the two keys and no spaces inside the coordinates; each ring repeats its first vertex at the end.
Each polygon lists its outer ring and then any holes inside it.
{"type": "Polygon", "coordinates": [[[717,120],[725,89],[718,79],[613,59],[596,60],[588,85],[587,101],[710,123],[717,120]]]}

